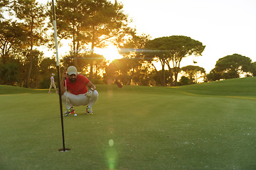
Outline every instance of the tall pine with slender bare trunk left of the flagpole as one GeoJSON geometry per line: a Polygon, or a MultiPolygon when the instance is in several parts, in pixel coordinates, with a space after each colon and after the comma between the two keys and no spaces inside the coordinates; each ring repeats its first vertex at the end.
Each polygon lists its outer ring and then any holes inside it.
{"type": "Polygon", "coordinates": [[[43,45],[45,42],[42,30],[46,21],[46,6],[38,4],[35,0],[14,0],[12,8],[14,15],[23,23],[23,29],[28,35],[25,41],[30,47],[30,54],[27,55],[30,63],[26,80],[26,87],[28,87],[33,67],[33,47],[43,45]]]}

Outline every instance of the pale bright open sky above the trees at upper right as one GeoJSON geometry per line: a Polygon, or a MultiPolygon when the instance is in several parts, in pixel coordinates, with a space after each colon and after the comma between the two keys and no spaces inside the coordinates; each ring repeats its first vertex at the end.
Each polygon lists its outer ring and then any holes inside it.
{"type": "MultiPolygon", "coordinates": [[[[114,2],[114,0],[111,0],[114,2]]],[[[210,72],[221,57],[235,53],[256,62],[255,0],[117,0],[133,19],[132,27],[151,39],[186,35],[206,45],[201,57],[188,57],[210,72]]],[[[60,48],[60,51],[64,51],[60,48]]],[[[60,54],[61,55],[61,54],[60,54]]]]}

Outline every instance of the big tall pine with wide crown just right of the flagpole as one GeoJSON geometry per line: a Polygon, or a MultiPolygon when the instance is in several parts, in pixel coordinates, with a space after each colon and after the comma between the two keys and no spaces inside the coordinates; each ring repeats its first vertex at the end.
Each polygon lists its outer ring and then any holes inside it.
{"type": "Polygon", "coordinates": [[[74,57],[78,56],[80,47],[90,45],[92,80],[95,47],[104,46],[104,42],[117,38],[127,28],[127,15],[122,11],[123,6],[117,1],[112,4],[107,0],[57,0],[56,4],[58,35],[60,38],[72,39],[74,57]]]}

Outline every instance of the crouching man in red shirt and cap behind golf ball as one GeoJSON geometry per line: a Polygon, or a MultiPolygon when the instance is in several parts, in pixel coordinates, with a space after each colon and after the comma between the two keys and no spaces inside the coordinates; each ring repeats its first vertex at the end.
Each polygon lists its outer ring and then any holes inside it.
{"type": "Polygon", "coordinates": [[[98,92],[95,90],[96,86],[87,77],[78,74],[74,66],[68,67],[67,72],[68,74],[63,73],[62,80],[60,81],[62,100],[67,108],[64,116],[75,113],[73,106],[86,105],[86,113],[93,114],[92,106],[98,97],[98,92]]]}

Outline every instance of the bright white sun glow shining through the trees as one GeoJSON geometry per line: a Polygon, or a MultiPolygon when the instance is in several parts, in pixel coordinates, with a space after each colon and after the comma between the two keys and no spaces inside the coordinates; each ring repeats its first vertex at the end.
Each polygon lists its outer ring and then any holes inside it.
{"type": "Polygon", "coordinates": [[[106,48],[103,49],[97,48],[95,49],[95,53],[103,55],[103,57],[105,57],[108,62],[122,59],[122,55],[119,54],[118,48],[114,45],[108,45],[106,48]]]}

